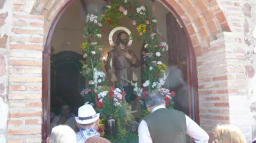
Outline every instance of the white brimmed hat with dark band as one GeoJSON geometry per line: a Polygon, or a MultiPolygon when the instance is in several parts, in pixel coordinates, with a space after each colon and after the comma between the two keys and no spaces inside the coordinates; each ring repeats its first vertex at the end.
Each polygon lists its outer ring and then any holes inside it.
{"type": "Polygon", "coordinates": [[[78,117],[75,120],[79,124],[90,124],[100,118],[100,113],[96,113],[91,104],[84,104],[78,109],[78,117]]]}

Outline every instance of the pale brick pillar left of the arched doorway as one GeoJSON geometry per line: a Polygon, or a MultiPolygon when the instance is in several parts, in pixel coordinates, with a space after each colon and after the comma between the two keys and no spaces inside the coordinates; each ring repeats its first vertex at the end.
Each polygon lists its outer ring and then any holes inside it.
{"type": "Polygon", "coordinates": [[[9,53],[8,142],[42,141],[44,17],[14,1],[9,53]]]}

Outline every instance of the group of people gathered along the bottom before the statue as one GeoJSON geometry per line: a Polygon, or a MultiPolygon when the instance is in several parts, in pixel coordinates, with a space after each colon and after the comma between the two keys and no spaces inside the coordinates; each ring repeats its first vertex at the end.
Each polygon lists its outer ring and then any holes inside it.
{"type": "MultiPolygon", "coordinates": [[[[151,113],[139,124],[139,143],[185,143],[186,135],[196,143],[209,142],[209,135],[185,113],[165,108],[165,101],[159,91],[150,93],[145,102],[151,113]]],[[[100,113],[96,113],[91,104],[80,107],[77,117],[64,104],[61,115],[56,116],[51,123],[51,135],[47,143],[109,143],[109,140],[100,137],[97,131],[99,124],[100,113]]],[[[246,139],[237,127],[218,125],[212,143],[216,142],[246,143],[246,139]]]]}

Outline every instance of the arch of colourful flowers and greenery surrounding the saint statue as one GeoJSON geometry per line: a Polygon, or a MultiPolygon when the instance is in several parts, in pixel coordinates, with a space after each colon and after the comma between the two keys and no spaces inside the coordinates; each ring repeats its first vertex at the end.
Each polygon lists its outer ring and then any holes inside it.
{"type": "MultiPolygon", "coordinates": [[[[86,59],[81,61],[82,76],[86,76],[89,88],[81,91],[81,95],[92,104],[95,104],[103,118],[113,117],[117,119],[118,133],[120,137],[125,137],[127,131],[120,126],[124,122],[132,120],[131,107],[125,102],[125,92],[122,89],[108,87],[104,85],[105,74],[100,72],[102,61],[102,48],[99,41],[105,34],[103,25],[115,28],[119,25],[119,19],[129,17],[131,24],[136,26],[138,36],[145,42],[145,51],[141,52],[145,64],[143,66],[143,88],[134,85],[138,98],[136,101],[144,102],[151,91],[163,91],[165,102],[172,106],[172,94],[168,94],[165,89],[161,89],[167,78],[165,73],[166,65],[160,60],[163,52],[168,50],[168,45],[161,33],[156,28],[157,21],[152,17],[154,6],[141,5],[138,1],[111,0],[111,5],[102,7],[98,13],[87,14],[86,28],[84,28],[84,38],[81,48],[86,59]],[[170,97],[170,98],[169,98],[170,97]]],[[[145,110],[147,111],[147,110],[145,110]]]]}

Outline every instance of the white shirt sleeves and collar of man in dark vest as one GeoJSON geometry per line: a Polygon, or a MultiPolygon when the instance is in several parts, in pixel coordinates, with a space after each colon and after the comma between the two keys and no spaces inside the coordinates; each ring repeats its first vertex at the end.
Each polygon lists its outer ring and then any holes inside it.
{"type": "MultiPolygon", "coordinates": [[[[165,108],[164,105],[160,105],[158,107],[154,107],[152,112],[156,111],[157,109],[165,108]]],[[[186,133],[190,137],[194,138],[194,142],[196,143],[208,143],[209,135],[201,129],[201,127],[196,124],[188,115],[185,115],[186,118],[186,133]]],[[[170,124],[172,124],[170,122],[170,124]]],[[[138,136],[139,136],[139,143],[152,143],[152,138],[150,137],[149,129],[147,127],[147,122],[142,120],[140,125],[138,126],[138,136]]]]}

